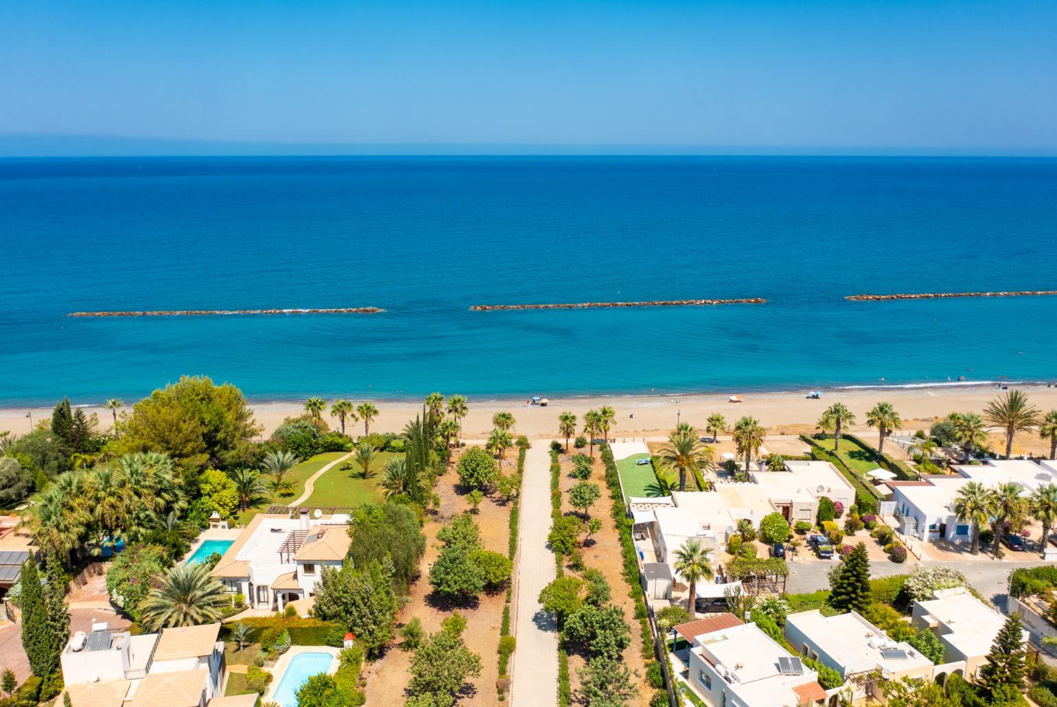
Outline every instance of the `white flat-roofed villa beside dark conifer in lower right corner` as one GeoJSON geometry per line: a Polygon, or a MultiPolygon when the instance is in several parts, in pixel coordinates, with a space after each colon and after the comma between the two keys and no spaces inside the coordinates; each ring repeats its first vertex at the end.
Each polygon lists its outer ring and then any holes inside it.
{"type": "MultiPolygon", "coordinates": [[[[921,631],[931,631],[943,644],[947,663],[964,662],[965,678],[977,674],[985,662],[1005,616],[969,594],[963,587],[937,590],[933,598],[914,601],[911,621],[921,631]]],[[[1024,632],[1027,640],[1027,632],[1024,632]]]]}

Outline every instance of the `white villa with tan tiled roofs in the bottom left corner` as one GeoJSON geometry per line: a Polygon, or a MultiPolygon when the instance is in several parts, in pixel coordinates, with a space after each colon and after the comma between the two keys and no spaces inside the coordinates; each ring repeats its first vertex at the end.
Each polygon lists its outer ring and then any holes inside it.
{"type": "Polygon", "coordinates": [[[137,636],[94,625],[62,650],[63,691],[86,707],[218,707],[225,676],[219,633],[220,624],[137,636]]]}

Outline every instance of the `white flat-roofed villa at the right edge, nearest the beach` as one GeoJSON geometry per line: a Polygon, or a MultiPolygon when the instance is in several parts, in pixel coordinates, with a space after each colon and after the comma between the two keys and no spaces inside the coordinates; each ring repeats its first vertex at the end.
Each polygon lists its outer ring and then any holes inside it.
{"type": "Polygon", "coordinates": [[[986,464],[953,468],[958,476],[924,476],[920,481],[889,482],[901,533],[926,541],[970,542],[970,525],[959,521],[953,510],[956,495],[970,481],[988,488],[1012,482],[1023,489],[1024,496],[1042,484],[1057,483],[1057,476],[1047,467],[1027,460],[988,460],[986,464]]]}

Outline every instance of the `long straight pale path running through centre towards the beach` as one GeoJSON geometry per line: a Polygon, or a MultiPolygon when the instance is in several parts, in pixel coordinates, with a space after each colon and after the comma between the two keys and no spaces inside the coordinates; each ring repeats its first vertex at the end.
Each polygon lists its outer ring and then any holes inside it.
{"type": "Polygon", "coordinates": [[[558,628],[543,611],[539,593],[554,580],[554,553],[546,546],[551,532],[550,440],[533,443],[525,453],[521,480],[518,532],[517,615],[514,635],[512,707],[552,707],[558,704],[558,628]]]}

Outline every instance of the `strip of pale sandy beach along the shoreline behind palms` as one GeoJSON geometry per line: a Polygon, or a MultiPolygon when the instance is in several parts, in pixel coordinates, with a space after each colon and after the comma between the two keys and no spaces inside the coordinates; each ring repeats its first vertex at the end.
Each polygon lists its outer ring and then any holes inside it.
{"type": "MultiPolygon", "coordinates": [[[[1045,386],[1010,386],[1028,393],[1032,403],[1043,411],[1057,409],[1057,388],[1045,386]]],[[[913,432],[927,429],[937,417],[948,413],[982,412],[987,403],[999,394],[997,387],[991,385],[972,386],[937,386],[930,388],[867,388],[867,389],[831,389],[823,391],[821,399],[808,399],[806,391],[785,393],[750,393],[741,395],[742,403],[728,402],[729,395],[722,394],[686,394],[664,396],[598,396],[598,397],[551,397],[548,407],[530,406],[526,399],[489,399],[475,402],[469,399],[469,415],[463,421],[463,433],[467,438],[485,436],[492,429],[492,416],[500,410],[506,410],[517,420],[516,431],[531,438],[557,435],[558,413],[569,410],[578,417],[591,409],[609,405],[616,411],[616,426],[610,431],[617,439],[631,436],[656,436],[667,433],[676,424],[676,420],[690,422],[699,428],[704,428],[705,420],[711,413],[719,412],[726,416],[733,425],[743,415],[758,418],[771,434],[799,434],[815,431],[815,421],[821,412],[833,403],[843,403],[855,413],[859,424],[853,431],[864,432],[867,439],[876,435],[876,431],[865,424],[866,412],[880,401],[887,401],[895,406],[903,416],[903,429],[913,432]]],[[[359,403],[360,401],[355,401],[359,403]]],[[[421,403],[409,401],[373,401],[379,410],[378,417],[371,423],[371,430],[378,432],[398,432],[404,424],[415,413],[421,412],[421,403]]],[[[301,414],[299,403],[253,403],[257,422],[264,427],[264,436],[282,424],[285,417],[301,414]]],[[[98,414],[99,428],[111,427],[111,414],[98,407],[86,407],[89,413],[98,414]]],[[[32,412],[34,422],[51,415],[51,409],[0,409],[0,430],[11,430],[23,434],[30,429],[27,412],[32,412]]],[[[338,426],[334,417],[327,417],[332,428],[338,426]]],[[[364,424],[348,423],[347,431],[361,434],[364,424]]],[[[1000,438],[996,432],[996,440],[1000,438]]],[[[1049,454],[1049,442],[1037,435],[1019,434],[1015,450],[1019,447],[1021,453],[1033,451],[1036,454],[1049,454]]]]}

